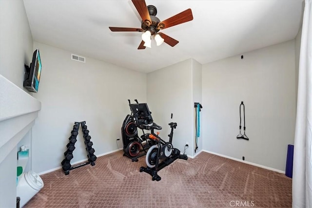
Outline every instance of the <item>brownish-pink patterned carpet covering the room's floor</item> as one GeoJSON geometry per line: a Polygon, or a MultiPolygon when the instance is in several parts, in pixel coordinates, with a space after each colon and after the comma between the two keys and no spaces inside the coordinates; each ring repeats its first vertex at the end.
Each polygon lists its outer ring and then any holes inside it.
{"type": "Polygon", "coordinates": [[[160,181],[139,172],[122,151],[98,157],[95,166],[41,175],[44,188],[25,208],[231,208],[292,207],[292,179],[201,152],[160,170],[160,181]]]}

